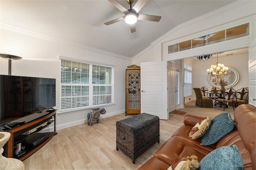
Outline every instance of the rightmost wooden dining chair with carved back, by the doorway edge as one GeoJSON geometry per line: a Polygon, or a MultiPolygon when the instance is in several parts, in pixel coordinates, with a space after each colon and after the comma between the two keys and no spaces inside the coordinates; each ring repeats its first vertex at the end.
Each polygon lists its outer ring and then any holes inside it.
{"type": "Polygon", "coordinates": [[[242,105],[242,104],[248,104],[248,87],[243,87],[236,91],[236,95],[233,99],[235,102],[235,107],[242,105]]]}

